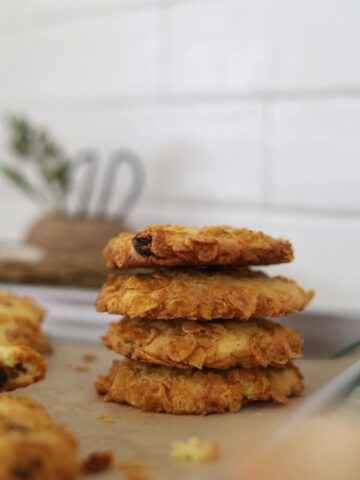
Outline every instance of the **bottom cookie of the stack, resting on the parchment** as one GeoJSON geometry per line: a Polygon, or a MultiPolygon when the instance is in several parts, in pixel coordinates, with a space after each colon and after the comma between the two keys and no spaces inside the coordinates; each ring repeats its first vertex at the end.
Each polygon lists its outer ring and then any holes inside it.
{"type": "Polygon", "coordinates": [[[236,412],[248,402],[287,403],[303,390],[300,371],[278,368],[180,370],[134,361],[114,361],[96,390],[106,401],[128,403],[152,412],[206,415],[236,412]]]}

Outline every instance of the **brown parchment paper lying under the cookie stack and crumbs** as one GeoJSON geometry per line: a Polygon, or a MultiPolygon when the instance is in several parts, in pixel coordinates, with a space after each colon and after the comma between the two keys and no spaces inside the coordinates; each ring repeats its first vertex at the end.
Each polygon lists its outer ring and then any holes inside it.
{"type": "MultiPolygon", "coordinates": [[[[59,342],[48,359],[46,380],[19,394],[29,394],[40,401],[57,421],[75,432],[82,455],[110,449],[116,464],[144,461],[149,478],[156,480],[235,478],[241,463],[269,441],[312,392],[354,360],[346,357],[299,362],[305,375],[306,393],[287,406],[248,405],[235,414],[196,417],[148,413],[126,405],[104,403],[93,383],[98,374],[107,371],[113,358],[114,354],[101,346],[59,342]],[[95,354],[97,360],[85,362],[85,353],[95,354]],[[77,367],[89,370],[78,371],[77,367]],[[102,414],[115,422],[99,420],[102,414]],[[191,436],[217,440],[219,460],[204,464],[171,458],[171,443],[191,436]]],[[[98,480],[121,478],[125,477],[118,468],[96,476],[98,480]]]]}

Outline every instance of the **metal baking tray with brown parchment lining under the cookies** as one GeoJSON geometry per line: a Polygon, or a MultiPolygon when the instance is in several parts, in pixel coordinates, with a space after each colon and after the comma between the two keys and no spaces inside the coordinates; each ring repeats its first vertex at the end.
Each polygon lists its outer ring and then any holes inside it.
{"type": "Polygon", "coordinates": [[[127,405],[104,403],[93,387],[97,375],[107,372],[116,357],[101,346],[98,337],[107,323],[117,318],[94,311],[95,290],[22,286],[16,292],[31,295],[48,309],[46,329],[55,345],[54,354],[48,358],[46,379],[18,393],[31,395],[57,421],[67,425],[77,435],[83,456],[99,450],[113,452],[115,467],[97,475],[99,480],[126,478],[117,466],[124,461],[143,462],[149,479],[239,478],[243,463],[293,424],[294,418],[304,418],[313,405],[321,408],[326,400],[323,392],[333,395],[337,385],[343,385],[349,366],[360,370],[355,364],[359,355],[329,358],[359,338],[358,313],[309,309],[280,320],[304,336],[305,356],[297,362],[305,376],[302,397],[292,399],[287,406],[252,404],[234,414],[206,417],[142,412],[127,405]],[[69,340],[74,338],[78,341],[69,340]],[[85,362],[86,353],[94,354],[96,361],[85,362]],[[101,415],[111,417],[114,423],[100,420],[101,415]],[[172,458],[172,442],[192,436],[216,440],[219,459],[202,464],[172,458]]]}

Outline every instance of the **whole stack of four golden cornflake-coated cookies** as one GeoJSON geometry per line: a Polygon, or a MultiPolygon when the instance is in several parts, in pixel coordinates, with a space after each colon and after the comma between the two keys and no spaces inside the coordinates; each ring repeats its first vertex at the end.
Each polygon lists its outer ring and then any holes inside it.
{"type": "Polygon", "coordinates": [[[129,359],[98,378],[107,401],[203,415],[302,392],[291,363],[302,354],[300,334],[264,317],[301,311],[313,292],[249,268],[290,262],[288,241],[226,226],[149,225],[110,240],[105,257],[118,272],[97,309],[125,317],[103,342],[129,359]]]}

